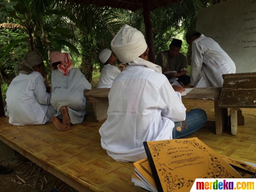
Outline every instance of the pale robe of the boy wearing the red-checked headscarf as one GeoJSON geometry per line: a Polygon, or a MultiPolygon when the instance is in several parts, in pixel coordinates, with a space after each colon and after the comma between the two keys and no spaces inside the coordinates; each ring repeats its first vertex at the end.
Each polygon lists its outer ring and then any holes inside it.
{"type": "Polygon", "coordinates": [[[61,108],[67,106],[70,122],[81,123],[86,113],[84,90],[91,89],[91,84],[78,68],[72,68],[68,76],[64,76],[60,70],[54,70],[51,87],[51,104],[57,111],[54,116],[62,118],[61,108]]]}

